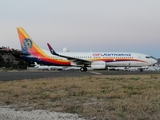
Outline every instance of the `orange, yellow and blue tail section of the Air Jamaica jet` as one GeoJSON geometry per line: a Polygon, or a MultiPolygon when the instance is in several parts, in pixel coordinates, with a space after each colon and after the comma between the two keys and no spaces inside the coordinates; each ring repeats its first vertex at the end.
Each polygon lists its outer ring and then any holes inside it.
{"type": "Polygon", "coordinates": [[[17,32],[22,49],[22,58],[46,65],[70,65],[68,61],[58,60],[55,59],[55,57],[50,57],[51,54],[48,54],[43,49],[39,48],[22,27],[18,27],[17,32]]]}

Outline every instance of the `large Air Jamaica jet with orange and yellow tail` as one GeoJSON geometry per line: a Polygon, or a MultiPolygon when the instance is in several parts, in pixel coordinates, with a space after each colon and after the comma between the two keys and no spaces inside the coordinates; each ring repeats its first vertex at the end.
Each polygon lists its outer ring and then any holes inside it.
{"type": "MultiPolygon", "coordinates": [[[[106,69],[107,67],[143,67],[157,63],[157,59],[142,53],[131,52],[55,52],[49,43],[49,51],[39,48],[22,27],[17,28],[22,58],[54,66],[75,66],[80,71],[106,69]]],[[[143,71],[143,69],[140,69],[143,71]]]]}

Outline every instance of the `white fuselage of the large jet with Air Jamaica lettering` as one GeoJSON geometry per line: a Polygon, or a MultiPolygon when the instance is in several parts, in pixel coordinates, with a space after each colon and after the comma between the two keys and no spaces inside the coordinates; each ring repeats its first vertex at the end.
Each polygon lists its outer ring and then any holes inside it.
{"type": "MultiPolygon", "coordinates": [[[[48,57],[53,57],[57,60],[66,60],[66,58],[52,55],[49,51],[45,51],[48,57]]],[[[106,66],[117,67],[142,67],[153,65],[157,60],[149,55],[130,52],[57,52],[60,55],[70,56],[77,59],[94,61],[103,61],[106,66]]],[[[74,61],[70,61],[74,64],[74,61]]],[[[77,63],[75,63],[76,65],[77,63]]]]}

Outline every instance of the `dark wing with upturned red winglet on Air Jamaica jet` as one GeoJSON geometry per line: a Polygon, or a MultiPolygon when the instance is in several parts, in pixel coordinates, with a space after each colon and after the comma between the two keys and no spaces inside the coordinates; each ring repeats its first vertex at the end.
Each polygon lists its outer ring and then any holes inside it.
{"type": "Polygon", "coordinates": [[[89,60],[84,60],[84,59],[79,59],[79,58],[74,58],[74,57],[69,57],[69,56],[64,56],[64,55],[57,54],[57,53],[53,50],[53,48],[51,47],[51,45],[50,45],[49,43],[47,43],[47,45],[48,45],[48,48],[49,48],[51,54],[53,54],[53,55],[66,58],[66,59],[68,59],[69,61],[72,61],[72,62],[77,63],[77,65],[82,65],[82,64],[83,64],[83,65],[90,65],[90,64],[91,64],[91,61],[89,61],[89,60]]]}

